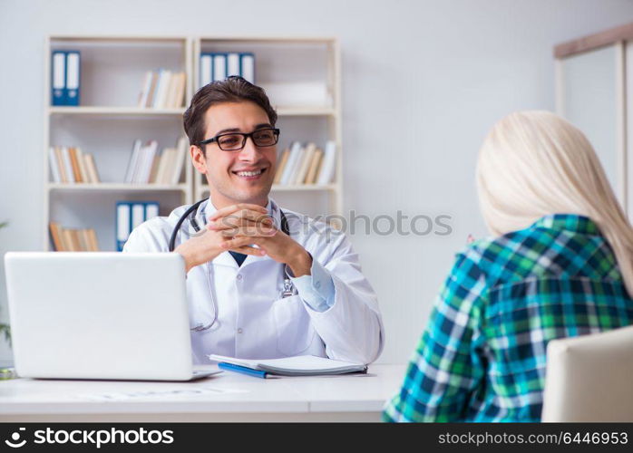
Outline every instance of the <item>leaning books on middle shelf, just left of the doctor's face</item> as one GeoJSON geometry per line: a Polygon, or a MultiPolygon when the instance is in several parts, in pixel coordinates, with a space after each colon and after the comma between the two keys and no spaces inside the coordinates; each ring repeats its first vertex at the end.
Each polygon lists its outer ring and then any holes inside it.
{"type": "Polygon", "coordinates": [[[159,153],[156,140],[144,145],[141,140],[134,140],[124,181],[128,184],[178,184],[187,155],[187,144],[187,138],[181,137],[176,148],[166,148],[159,153]]]}

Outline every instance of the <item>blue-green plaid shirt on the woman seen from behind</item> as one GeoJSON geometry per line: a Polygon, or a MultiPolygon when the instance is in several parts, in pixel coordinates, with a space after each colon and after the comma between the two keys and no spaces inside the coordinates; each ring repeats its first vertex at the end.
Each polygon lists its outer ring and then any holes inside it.
{"type": "Polygon", "coordinates": [[[547,343],[633,323],[615,255],[556,214],[457,255],[385,421],[540,421],[547,343]]]}

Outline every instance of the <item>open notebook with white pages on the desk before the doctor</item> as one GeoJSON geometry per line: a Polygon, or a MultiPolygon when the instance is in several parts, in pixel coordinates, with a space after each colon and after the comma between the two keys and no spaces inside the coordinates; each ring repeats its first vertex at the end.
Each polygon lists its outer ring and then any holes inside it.
{"type": "Polygon", "coordinates": [[[266,371],[277,376],[325,376],[367,371],[367,365],[363,363],[335,361],[314,355],[298,355],[283,359],[248,360],[210,354],[209,360],[238,365],[251,370],[266,371]]]}

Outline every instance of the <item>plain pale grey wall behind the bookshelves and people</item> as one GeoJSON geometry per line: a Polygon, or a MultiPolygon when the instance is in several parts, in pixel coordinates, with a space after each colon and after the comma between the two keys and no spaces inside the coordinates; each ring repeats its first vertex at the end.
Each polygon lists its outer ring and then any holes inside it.
{"type": "Polygon", "coordinates": [[[352,237],[385,318],[380,361],[405,361],[453,253],[485,232],[473,169],[486,131],[510,111],[553,110],[555,43],[631,20],[628,0],[0,0],[0,254],[42,247],[46,34],[337,36],[346,209],[453,217],[450,236],[352,237]]]}

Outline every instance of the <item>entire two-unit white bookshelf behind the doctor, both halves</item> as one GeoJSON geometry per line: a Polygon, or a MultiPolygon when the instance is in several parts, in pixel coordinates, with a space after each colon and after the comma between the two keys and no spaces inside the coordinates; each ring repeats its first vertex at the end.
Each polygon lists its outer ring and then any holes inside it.
{"type": "MultiPolygon", "coordinates": [[[[281,129],[278,150],[291,141],[314,141],[323,148],[336,142],[335,179],[326,185],[275,185],[272,196],[281,206],[311,215],[342,214],[342,139],[340,51],[335,38],[192,37],[192,36],[61,36],[44,46],[44,249],[52,249],[48,226],[93,227],[102,250],[115,249],[115,204],[118,200],[158,201],[161,216],[182,204],[208,197],[206,180],[188,157],[184,177],[176,185],[125,184],[133,140],[157,140],[159,149],[173,147],[184,134],[182,114],[199,88],[201,52],[252,52],[256,83],[319,81],[328,102],[302,105],[271,102],[281,129]],[[51,52],[81,52],[81,104],[51,105],[51,52]],[[137,107],[143,75],[159,68],[186,73],[185,102],[180,108],[137,107]],[[48,149],[74,146],[93,154],[102,183],[54,183],[48,149]],[[194,174],[195,173],[195,174],[194,174]]],[[[189,153],[188,153],[189,154],[189,153]]]]}

